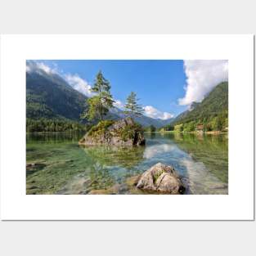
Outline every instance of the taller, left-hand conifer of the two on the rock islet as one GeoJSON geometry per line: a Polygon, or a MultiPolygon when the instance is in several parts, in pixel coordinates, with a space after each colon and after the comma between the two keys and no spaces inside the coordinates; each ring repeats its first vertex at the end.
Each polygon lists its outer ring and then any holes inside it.
{"type": "Polygon", "coordinates": [[[91,92],[95,92],[95,96],[88,98],[87,109],[83,112],[82,119],[100,119],[103,120],[104,116],[113,107],[113,97],[110,93],[110,82],[104,78],[101,71],[96,76],[95,83],[91,92]]]}

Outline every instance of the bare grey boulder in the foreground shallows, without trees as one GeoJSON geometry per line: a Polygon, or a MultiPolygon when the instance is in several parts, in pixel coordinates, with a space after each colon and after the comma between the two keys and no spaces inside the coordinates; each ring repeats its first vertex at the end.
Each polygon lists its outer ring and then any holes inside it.
{"type": "Polygon", "coordinates": [[[145,173],[142,173],[137,188],[146,191],[160,191],[178,195],[183,194],[185,186],[172,166],[155,164],[145,173]]]}

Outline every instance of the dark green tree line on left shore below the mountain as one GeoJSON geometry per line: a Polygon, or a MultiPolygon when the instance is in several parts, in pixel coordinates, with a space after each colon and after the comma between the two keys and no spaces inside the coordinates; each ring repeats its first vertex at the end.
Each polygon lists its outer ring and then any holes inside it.
{"type": "Polygon", "coordinates": [[[68,119],[26,119],[26,132],[85,132],[88,126],[68,119]]]}

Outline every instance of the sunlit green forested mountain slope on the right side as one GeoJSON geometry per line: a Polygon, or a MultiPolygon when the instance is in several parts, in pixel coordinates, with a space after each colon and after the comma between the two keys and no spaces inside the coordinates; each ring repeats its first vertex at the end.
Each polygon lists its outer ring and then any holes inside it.
{"type": "Polygon", "coordinates": [[[228,82],[219,83],[200,103],[193,102],[190,110],[177,115],[171,124],[209,121],[228,112],[228,82]]]}

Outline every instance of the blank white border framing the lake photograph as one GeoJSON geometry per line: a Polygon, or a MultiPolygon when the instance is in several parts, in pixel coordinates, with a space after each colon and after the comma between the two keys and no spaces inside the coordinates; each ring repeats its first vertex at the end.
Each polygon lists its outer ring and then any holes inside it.
{"type": "Polygon", "coordinates": [[[253,35],[2,35],[1,217],[5,220],[254,219],[253,35]],[[229,195],[25,195],[25,60],[229,61],[229,195]]]}

